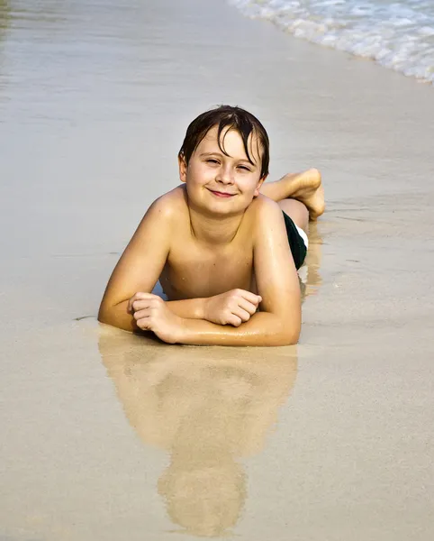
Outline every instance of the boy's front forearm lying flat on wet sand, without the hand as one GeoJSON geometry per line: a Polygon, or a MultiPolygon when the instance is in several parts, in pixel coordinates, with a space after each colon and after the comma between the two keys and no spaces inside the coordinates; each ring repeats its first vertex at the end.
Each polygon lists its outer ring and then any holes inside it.
{"type": "Polygon", "coordinates": [[[178,344],[188,345],[290,345],[300,335],[298,323],[284,322],[268,312],[257,312],[239,327],[216,325],[203,319],[183,319],[178,344]]]}

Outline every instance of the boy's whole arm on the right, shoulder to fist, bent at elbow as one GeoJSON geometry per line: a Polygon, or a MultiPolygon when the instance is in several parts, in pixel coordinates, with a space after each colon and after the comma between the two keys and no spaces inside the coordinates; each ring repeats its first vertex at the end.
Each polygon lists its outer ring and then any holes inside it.
{"type": "Polygon", "coordinates": [[[153,330],[166,342],[178,344],[288,345],[297,342],[301,326],[300,286],[284,218],[279,206],[269,200],[258,201],[256,210],[254,264],[258,293],[262,297],[261,312],[239,327],[221,326],[173,313],[172,317],[167,316],[169,310],[164,303],[152,298],[149,307],[142,314],[136,314],[140,328],[153,330]]]}

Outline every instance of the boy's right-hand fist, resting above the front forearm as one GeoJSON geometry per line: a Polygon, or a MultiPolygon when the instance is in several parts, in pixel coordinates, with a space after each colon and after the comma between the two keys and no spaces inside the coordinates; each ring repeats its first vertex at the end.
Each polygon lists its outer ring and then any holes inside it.
{"type": "Polygon", "coordinates": [[[226,293],[206,298],[203,319],[219,325],[240,326],[257,311],[262,298],[244,289],[231,289],[226,293]]]}

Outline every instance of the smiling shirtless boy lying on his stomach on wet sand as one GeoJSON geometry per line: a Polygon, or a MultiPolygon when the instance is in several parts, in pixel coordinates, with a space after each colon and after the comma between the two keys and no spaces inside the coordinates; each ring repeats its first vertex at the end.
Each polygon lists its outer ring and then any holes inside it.
{"type": "Polygon", "coordinates": [[[178,155],[183,184],[144,215],[99,321],[153,331],[168,344],[296,344],[296,269],[324,195],[317,170],[264,185],[268,148],[265,128],[240,107],[222,105],[188,126],[178,155]],[[150,293],[158,278],[167,301],[150,293]]]}

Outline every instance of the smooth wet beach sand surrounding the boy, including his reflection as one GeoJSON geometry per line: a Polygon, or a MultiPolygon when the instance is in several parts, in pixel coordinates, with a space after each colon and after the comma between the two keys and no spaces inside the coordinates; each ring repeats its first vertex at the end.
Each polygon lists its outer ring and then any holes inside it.
{"type": "Polygon", "coordinates": [[[433,117],[432,86],[223,0],[0,0],[0,540],[432,539],[433,117]],[[272,179],[323,175],[294,347],[96,321],[221,103],[272,179]]]}

